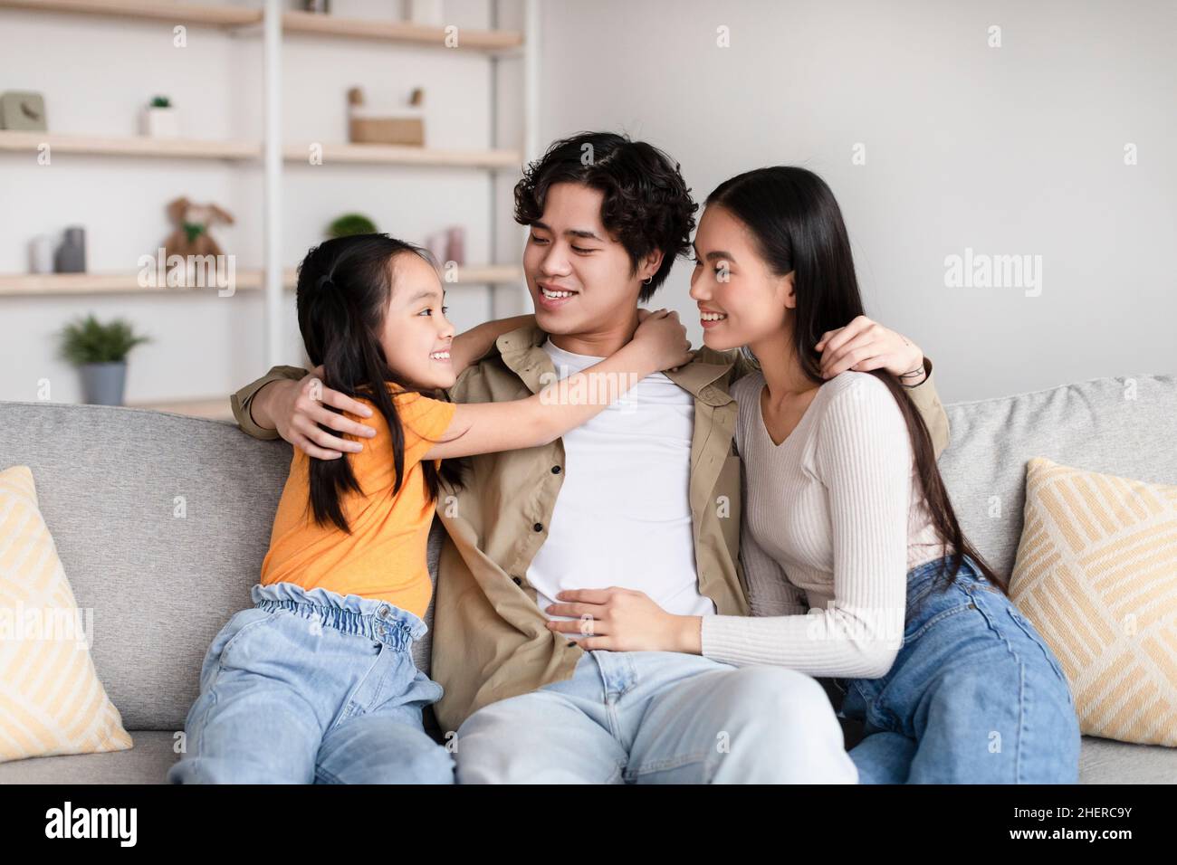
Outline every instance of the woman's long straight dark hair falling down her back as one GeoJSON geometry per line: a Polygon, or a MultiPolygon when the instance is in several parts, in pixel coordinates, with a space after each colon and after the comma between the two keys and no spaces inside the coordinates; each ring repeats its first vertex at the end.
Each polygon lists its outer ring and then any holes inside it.
{"type": "MultiPolygon", "coordinates": [[[[850,238],[833,192],[811,171],[774,166],[725,180],[707,197],[707,206],[712,205],[723,207],[747,227],[773,273],[778,277],[793,273],[797,307],[793,310],[792,350],[805,375],[816,385],[824,384],[820,355],[813,346],[826,331],[844,327],[864,314],[850,238]]],[[[871,374],[886,385],[899,405],[932,524],[942,543],[952,544],[947,583],[956,579],[967,555],[989,580],[1006,591],[1005,580],[993,572],[960,530],[936,465],[927,425],[906,390],[885,370],[872,370],[871,374]]]]}

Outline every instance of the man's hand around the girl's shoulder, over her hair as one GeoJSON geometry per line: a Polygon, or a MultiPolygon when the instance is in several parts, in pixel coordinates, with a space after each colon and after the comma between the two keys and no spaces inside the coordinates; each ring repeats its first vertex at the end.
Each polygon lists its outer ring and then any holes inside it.
{"type": "Polygon", "coordinates": [[[319,428],[319,424],[361,438],[375,435],[371,426],[348,420],[324,406],[334,406],[361,418],[372,417],[372,410],[363,402],[324,387],[321,366],[299,381],[271,381],[254,395],[251,412],[259,426],[277,428],[278,434],[294,447],[317,459],[339,459],[345,451],[354,453],[364,450],[359,441],[332,435],[319,428]],[[254,407],[257,411],[253,411],[254,407]]]}

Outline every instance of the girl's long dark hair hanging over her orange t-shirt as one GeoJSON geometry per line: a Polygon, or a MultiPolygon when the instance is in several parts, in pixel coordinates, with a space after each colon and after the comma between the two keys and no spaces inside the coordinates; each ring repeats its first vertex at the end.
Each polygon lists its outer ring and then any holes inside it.
{"type": "MultiPolygon", "coordinates": [[[[388,382],[433,399],[445,399],[440,392],[423,391],[401,380],[388,366],[380,345],[393,291],[392,259],[395,255],[420,255],[430,260],[420,247],[387,234],[353,234],[327,240],[302,259],[297,290],[302,344],[311,362],[322,365],[324,386],[371,400],[388,424],[397,473],[393,495],[404,480],[405,432],[388,382]]],[[[424,460],[421,467],[430,501],[437,501],[440,481],[454,486],[461,483],[460,460],[444,460],[440,472],[432,460],[424,460]]],[[[340,498],[346,492],[363,493],[363,490],[347,454],[331,460],[312,458],[310,475],[315,523],[330,521],[350,532],[340,498]]]]}

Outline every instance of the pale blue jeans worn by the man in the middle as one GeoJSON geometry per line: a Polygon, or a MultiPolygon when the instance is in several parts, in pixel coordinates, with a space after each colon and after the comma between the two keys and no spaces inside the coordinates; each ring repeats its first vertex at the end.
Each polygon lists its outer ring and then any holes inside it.
{"type": "Polygon", "coordinates": [[[572,678],[471,714],[454,757],[460,784],[857,778],[816,679],[678,652],[585,652],[572,678]]]}

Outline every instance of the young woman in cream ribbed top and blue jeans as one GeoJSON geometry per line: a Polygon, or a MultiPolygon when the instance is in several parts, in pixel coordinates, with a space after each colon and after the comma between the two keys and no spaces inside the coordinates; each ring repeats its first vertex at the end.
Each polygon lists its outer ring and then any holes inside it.
{"type": "Polygon", "coordinates": [[[1079,731],[1051,650],[960,531],[927,428],[887,358],[825,380],[863,314],[829,186],[803,168],[725,181],[694,241],[704,341],[739,347],[742,560],[754,617],[677,617],[577,591],[550,613],[586,648],[685,651],[831,677],[860,783],[1076,783],[1079,731]],[[830,340],[832,341],[832,340],[830,340]]]}

